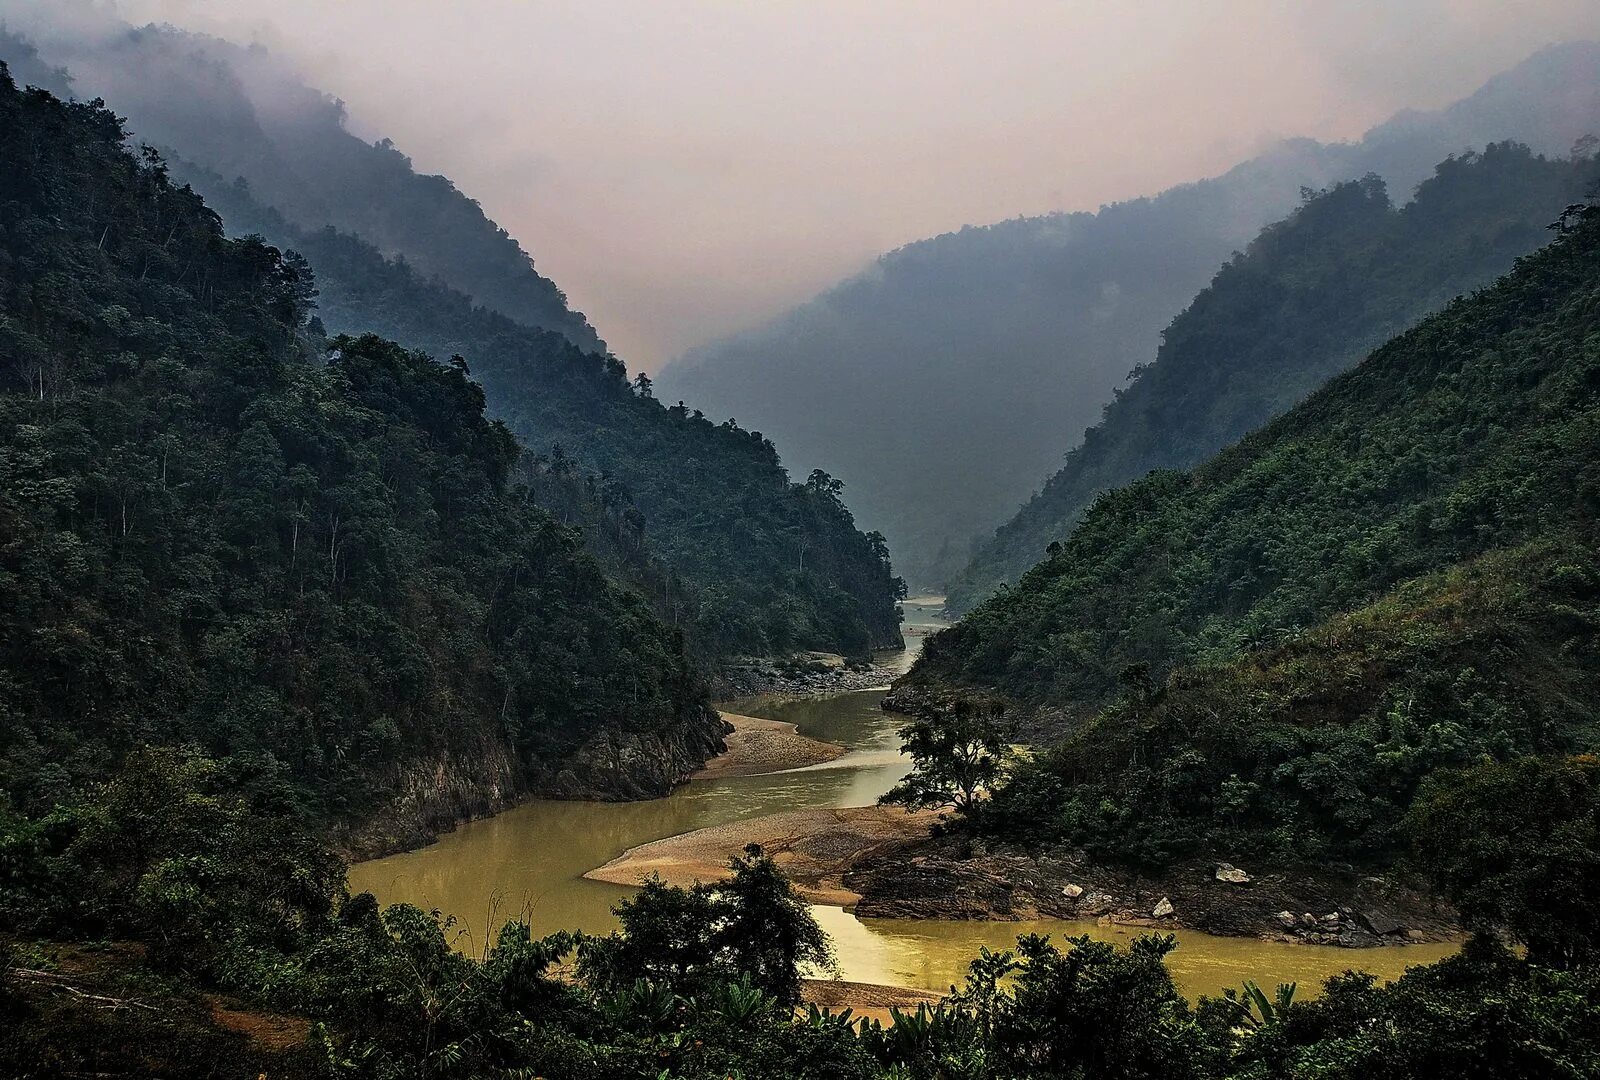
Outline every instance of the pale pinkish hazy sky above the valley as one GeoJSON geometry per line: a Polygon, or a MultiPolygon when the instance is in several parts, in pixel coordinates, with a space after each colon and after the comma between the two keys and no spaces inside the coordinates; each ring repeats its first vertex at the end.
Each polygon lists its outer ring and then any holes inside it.
{"type": "Polygon", "coordinates": [[[1357,136],[1600,37],[1597,0],[107,6],[291,56],[646,370],[907,240],[1154,192],[1270,136],[1357,136]]]}

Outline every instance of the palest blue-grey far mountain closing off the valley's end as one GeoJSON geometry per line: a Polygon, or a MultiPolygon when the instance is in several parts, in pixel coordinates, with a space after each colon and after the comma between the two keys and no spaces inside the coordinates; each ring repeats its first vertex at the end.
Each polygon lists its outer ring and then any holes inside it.
{"type": "Polygon", "coordinates": [[[773,435],[838,475],[901,571],[942,586],[1054,472],[1216,267],[1302,187],[1378,173],[1410,194],[1450,154],[1595,131],[1600,45],[1549,48],[1438,112],[1358,142],[1294,139],[1229,173],[1098,213],[907,245],[811,302],[680,357],[662,397],[773,435]]]}

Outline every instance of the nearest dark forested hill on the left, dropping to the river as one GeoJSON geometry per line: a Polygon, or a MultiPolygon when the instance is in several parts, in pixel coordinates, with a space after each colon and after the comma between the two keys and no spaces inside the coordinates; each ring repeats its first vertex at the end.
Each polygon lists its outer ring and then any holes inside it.
{"type": "Polygon", "coordinates": [[[512,482],[458,366],[328,349],[314,291],[112,114],[0,75],[0,789],[194,744],[322,821],[664,792],[720,731],[682,635],[512,482]]]}

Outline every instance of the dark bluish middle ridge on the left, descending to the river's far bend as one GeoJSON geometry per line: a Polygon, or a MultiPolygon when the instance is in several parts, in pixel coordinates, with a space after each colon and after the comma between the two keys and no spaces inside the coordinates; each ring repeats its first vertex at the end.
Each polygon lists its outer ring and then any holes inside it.
{"type": "Polygon", "coordinates": [[[222,190],[222,219],[293,246],[317,270],[318,315],[395,341],[459,354],[499,416],[549,469],[587,472],[611,512],[672,581],[664,618],[710,656],[795,650],[866,656],[899,642],[901,584],[877,533],[861,534],[832,477],[790,483],[760,432],[664,406],[614,357],[475,307],[387,261],[363,240],[299,232],[248,187],[222,190]],[[675,579],[675,581],[674,581],[675,579]]]}

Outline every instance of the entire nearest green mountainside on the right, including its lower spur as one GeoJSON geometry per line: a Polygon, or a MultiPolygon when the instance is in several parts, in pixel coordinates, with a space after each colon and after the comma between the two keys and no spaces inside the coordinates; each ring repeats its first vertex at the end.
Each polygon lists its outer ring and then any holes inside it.
{"type": "Polygon", "coordinates": [[[1600,213],[1192,472],[1102,494],[891,696],[1064,739],[984,811],[1114,861],[1394,859],[1435,773],[1594,752],[1600,213]]]}

